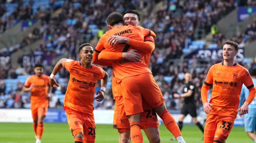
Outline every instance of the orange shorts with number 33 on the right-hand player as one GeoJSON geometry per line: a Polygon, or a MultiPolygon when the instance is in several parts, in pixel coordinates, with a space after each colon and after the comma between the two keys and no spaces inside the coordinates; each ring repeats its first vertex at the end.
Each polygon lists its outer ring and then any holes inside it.
{"type": "Polygon", "coordinates": [[[235,119],[234,117],[208,114],[204,127],[204,143],[212,143],[215,135],[223,140],[227,139],[235,119]]]}

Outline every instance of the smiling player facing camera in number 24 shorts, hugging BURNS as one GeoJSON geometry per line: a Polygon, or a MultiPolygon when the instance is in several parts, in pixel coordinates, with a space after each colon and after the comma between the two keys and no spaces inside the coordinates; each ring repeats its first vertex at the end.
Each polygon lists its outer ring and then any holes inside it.
{"type": "MultiPolygon", "coordinates": [[[[140,14],[136,10],[126,10],[123,14],[124,24],[125,25],[140,25],[140,14]]],[[[151,36],[144,38],[145,46],[151,46],[154,49],[154,38],[151,36]]],[[[137,46],[137,45],[130,45],[137,46]]],[[[150,53],[144,55],[144,61],[148,65],[150,61],[150,53]]],[[[102,50],[99,54],[94,53],[94,58],[98,58],[100,62],[103,61],[118,61],[123,58],[128,59],[128,61],[140,62],[141,56],[136,53],[135,50],[130,50],[125,53],[115,53],[115,52],[107,52],[106,50],[102,50]]],[[[119,142],[127,143],[130,142],[130,125],[127,116],[124,112],[124,104],[122,98],[122,90],[120,84],[116,83],[114,77],[112,77],[112,91],[115,99],[115,112],[114,112],[114,123],[113,127],[118,129],[119,133],[119,142]],[[115,91],[115,93],[114,93],[115,91]]],[[[143,110],[141,114],[141,129],[144,130],[146,136],[150,143],[160,143],[160,133],[159,133],[159,123],[156,116],[156,112],[154,108],[150,106],[144,98],[142,98],[143,110]]]]}

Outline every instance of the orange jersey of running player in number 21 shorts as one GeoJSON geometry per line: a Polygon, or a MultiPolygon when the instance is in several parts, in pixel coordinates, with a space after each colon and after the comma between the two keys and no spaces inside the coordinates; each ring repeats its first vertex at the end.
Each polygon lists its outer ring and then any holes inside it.
{"type": "Polygon", "coordinates": [[[92,65],[90,69],[84,68],[80,61],[67,59],[64,67],[69,71],[70,78],[64,98],[64,110],[66,107],[86,114],[93,115],[93,102],[96,83],[105,77],[105,71],[101,67],[92,65]]]}

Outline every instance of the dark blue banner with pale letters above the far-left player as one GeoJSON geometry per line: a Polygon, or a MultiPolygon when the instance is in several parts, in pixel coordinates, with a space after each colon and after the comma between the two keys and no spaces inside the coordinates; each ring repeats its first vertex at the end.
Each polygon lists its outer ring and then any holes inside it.
{"type": "Polygon", "coordinates": [[[23,65],[34,65],[35,63],[47,63],[48,65],[52,64],[54,59],[54,54],[42,54],[42,55],[23,55],[22,64],[23,65]]]}

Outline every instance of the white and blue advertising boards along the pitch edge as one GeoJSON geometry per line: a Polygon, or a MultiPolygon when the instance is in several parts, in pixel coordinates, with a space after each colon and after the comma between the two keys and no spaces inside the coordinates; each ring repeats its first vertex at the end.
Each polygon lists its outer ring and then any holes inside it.
{"type": "MultiPolygon", "coordinates": [[[[174,119],[178,122],[180,111],[169,110],[174,119]]],[[[114,110],[94,110],[94,119],[96,124],[113,124],[114,110]]],[[[198,121],[204,124],[206,114],[203,111],[198,112],[198,121]]],[[[159,124],[163,124],[162,119],[158,116],[159,124]]],[[[32,123],[30,109],[0,109],[0,122],[8,123],[32,123]]],[[[67,123],[66,112],[62,109],[48,109],[45,118],[46,123],[67,123]]],[[[186,116],[184,124],[193,124],[192,117],[186,116]]],[[[244,125],[243,118],[236,118],[235,126],[244,125]]]]}

